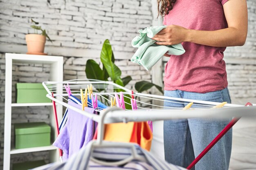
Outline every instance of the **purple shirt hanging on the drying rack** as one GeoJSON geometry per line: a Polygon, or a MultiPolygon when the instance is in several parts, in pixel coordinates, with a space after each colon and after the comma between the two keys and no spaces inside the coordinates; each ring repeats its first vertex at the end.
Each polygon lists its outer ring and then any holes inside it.
{"type": "MultiPolygon", "coordinates": [[[[81,109],[81,106],[74,102],[69,101],[68,104],[81,109]]],[[[95,109],[85,107],[84,110],[93,114],[95,109]]],[[[68,109],[67,122],[52,144],[63,150],[63,161],[67,160],[92,140],[96,126],[95,123],[92,119],[70,108],[68,109]]]]}

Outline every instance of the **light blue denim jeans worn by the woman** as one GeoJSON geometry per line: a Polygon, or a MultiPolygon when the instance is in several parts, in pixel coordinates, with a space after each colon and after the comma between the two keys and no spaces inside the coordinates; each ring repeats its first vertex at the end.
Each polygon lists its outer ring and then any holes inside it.
{"type": "MultiPolygon", "coordinates": [[[[211,102],[231,103],[227,88],[209,93],[192,93],[186,91],[164,91],[164,96],[211,102]]],[[[165,100],[164,106],[183,108],[183,103],[165,100]]],[[[176,101],[177,102],[177,101],[176,101]]],[[[199,106],[193,106],[199,107],[199,106]]],[[[207,110],[206,110],[207,111],[207,110]]],[[[225,113],[223,113],[225,114],[225,113]]],[[[164,121],[164,155],[165,160],[186,168],[204,148],[229,123],[230,119],[179,119],[164,121]]],[[[220,141],[196,163],[195,170],[228,170],[231,155],[232,130],[230,129],[220,141]]],[[[193,169],[194,169],[193,168],[193,169]]]]}

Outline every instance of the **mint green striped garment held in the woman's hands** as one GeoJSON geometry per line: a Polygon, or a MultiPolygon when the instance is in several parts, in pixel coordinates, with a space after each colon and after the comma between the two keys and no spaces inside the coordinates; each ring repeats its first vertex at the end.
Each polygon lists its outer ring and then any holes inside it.
{"type": "Polygon", "coordinates": [[[169,55],[182,55],[185,50],[182,44],[171,46],[157,45],[156,40],[152,40],[159,31],[166,26],[150,26],[139,30],[139,36],[132,40],[132,46],[138,48],[131,58],[131,62],[137,63],[148,71],[152,68],[165,53],[169,55]]]}

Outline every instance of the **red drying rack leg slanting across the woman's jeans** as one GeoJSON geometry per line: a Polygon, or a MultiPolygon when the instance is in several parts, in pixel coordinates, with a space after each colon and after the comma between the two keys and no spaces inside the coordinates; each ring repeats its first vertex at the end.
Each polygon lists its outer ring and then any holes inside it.
{"type": "MultiPolygon", "coordinates": [[[[252,106],[252,104],[247,103],[245,106],[252,106]]],[[[193,166],[195,166],[195,164],[198,163],[200,159],[202,159],[202,157],[227,133],[227,131],[229,131],[230,128],[232,128],[232,126],[234,126],[234,124],[236,124],[239,119],[240,117],[235,117],[232,119],[229,124],[227,124],[227,126],[213,139],[213,141],[211,141],[211,143],[198,155],[198,157],[195,158],[195,160],[187,167],[187,169],[190,170],[193,168],[193,166]]]]}

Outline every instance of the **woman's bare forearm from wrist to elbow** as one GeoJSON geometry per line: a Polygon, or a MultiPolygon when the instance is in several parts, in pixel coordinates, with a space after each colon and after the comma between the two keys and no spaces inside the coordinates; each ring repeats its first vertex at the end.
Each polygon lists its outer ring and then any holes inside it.
{"type": "Polygon", "coordinates": [[[193,42],[207,46],[243,46],[247,33],[229,27],[216,31],[187,30],[186,42],[193,42]]]}

